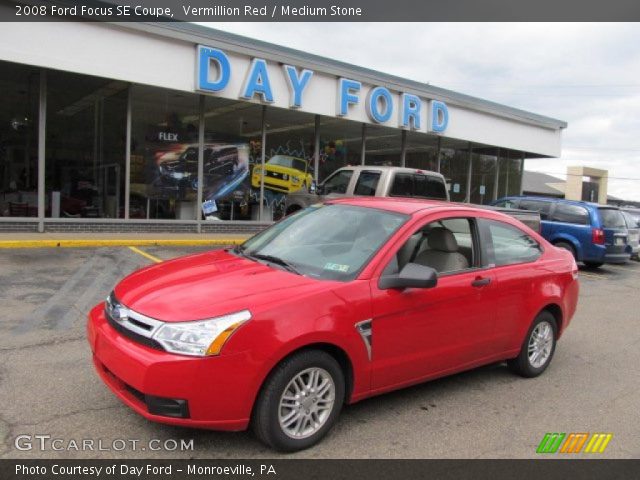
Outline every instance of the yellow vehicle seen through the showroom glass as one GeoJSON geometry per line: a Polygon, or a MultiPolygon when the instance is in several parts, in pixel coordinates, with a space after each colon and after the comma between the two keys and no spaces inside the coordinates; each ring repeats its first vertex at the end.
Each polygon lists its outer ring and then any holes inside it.
{"type": "MultiPolygon", "coordinates": [[[[306,188],[313,182],[309,162],[289,155],[274,155],[264,164],[264,187],[274,192],[293,193],[306,188]]],[[[256,165],[251,175],[251,186],[260,188],[262,166],[256,165]]]]}

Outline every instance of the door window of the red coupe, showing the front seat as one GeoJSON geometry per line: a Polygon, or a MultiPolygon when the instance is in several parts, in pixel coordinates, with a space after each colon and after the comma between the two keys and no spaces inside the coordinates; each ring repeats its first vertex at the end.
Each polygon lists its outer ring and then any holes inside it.
{"type": "Polygon", "coordinates": [[[383,275],[400,272],[407,263],[431,267],[438,274],[475,268],[475,224],[469,218],[446,218],[430,222],[414,232],[400,247],[383,275]]]}

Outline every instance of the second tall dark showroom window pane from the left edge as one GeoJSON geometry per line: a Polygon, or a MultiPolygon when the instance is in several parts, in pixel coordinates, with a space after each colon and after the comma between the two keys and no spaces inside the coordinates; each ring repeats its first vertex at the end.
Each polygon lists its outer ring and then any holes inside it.
{"type": "Polygon", "coordinates": [[[124,217],[127,95],[124,82],[47,72],[48,217],[124,217]]]}

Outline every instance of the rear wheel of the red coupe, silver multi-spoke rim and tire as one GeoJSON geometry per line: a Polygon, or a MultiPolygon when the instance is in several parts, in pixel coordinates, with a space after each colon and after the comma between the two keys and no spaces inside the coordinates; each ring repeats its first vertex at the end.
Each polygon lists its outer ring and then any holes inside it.
{"type": "Polygon", "coordinates": [[[556,350],[558,327],[551,312],[543,311],[533,321],[518,356],[507,363],[523,377],[537,377],[544,372],[556,350]]]}

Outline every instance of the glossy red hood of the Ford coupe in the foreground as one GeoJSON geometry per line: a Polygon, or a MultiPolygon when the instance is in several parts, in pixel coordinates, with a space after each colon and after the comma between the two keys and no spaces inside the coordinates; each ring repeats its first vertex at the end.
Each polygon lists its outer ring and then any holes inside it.
{"type": "Polygon", "coordinates": [[[277,301],[295,301],[300,295],[331,288],[332,283],[215,250],[134,272],[116,286],[115,295],[138,313],[181,322],[245,309],[255,313],[277,301]]]}

